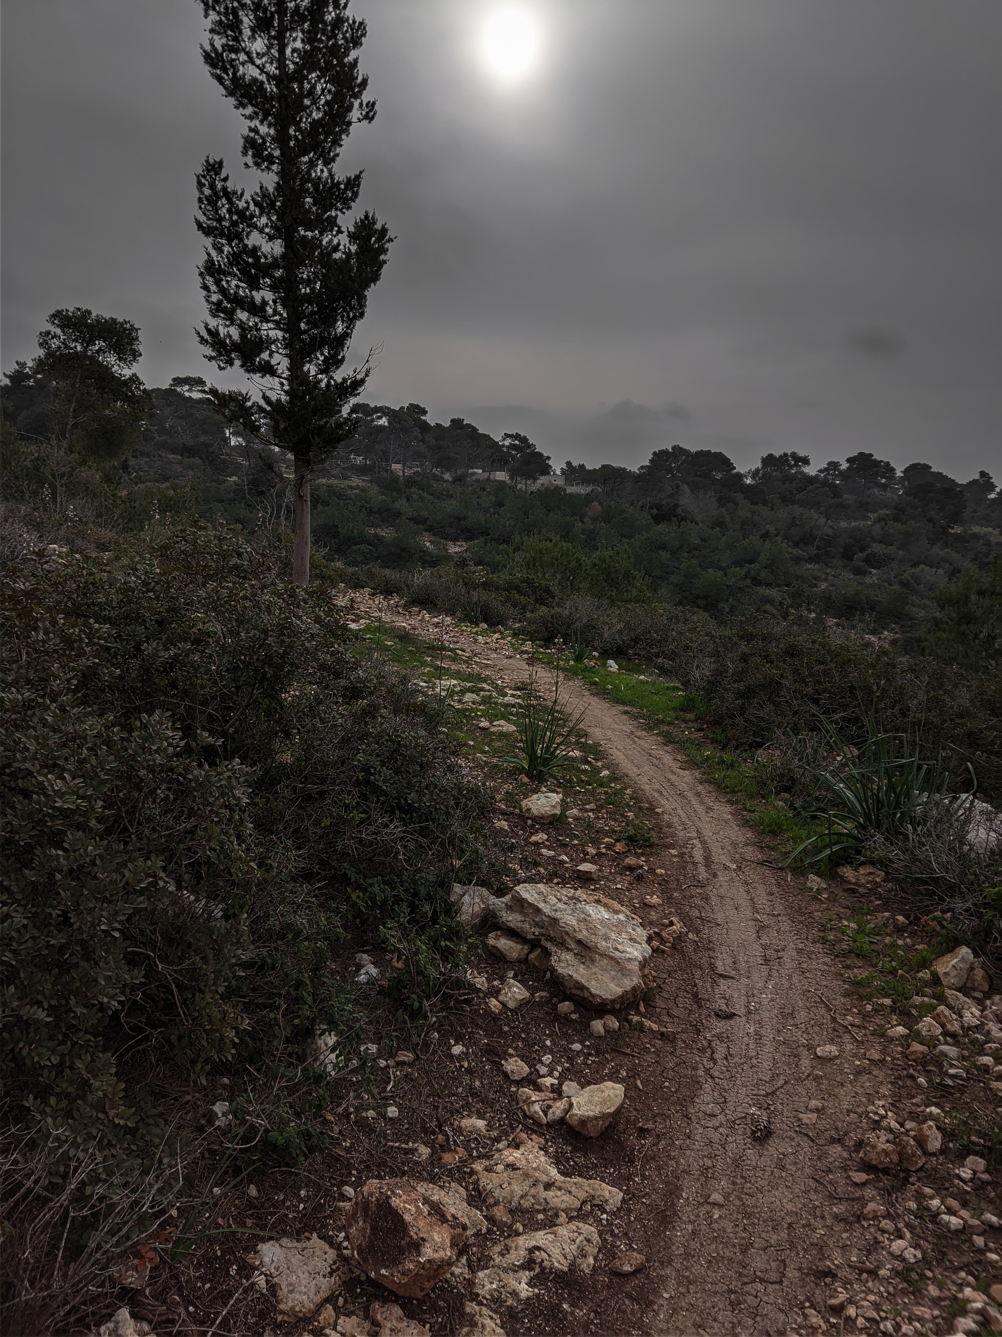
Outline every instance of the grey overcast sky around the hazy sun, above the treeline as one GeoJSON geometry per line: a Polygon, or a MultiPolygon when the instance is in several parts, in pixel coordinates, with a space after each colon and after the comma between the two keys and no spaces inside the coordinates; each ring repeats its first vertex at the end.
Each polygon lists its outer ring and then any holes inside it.
{"type": "MultiPolygon", "coordinates": [[[[680,441],[1002,473],[998,0],[359,0],[366,397],[635,465],[680,441]],[[536,51],[501,75],[485,32],[536,51]]],[[[239,119],[194,0],[4,0],[3,366],[56,306],[194,372],[239,119]]]]}

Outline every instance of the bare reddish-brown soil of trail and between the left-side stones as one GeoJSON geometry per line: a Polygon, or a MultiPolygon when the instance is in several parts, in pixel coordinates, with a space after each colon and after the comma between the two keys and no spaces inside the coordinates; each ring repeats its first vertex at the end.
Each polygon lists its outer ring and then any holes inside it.
{"type": "MultiPolygon", "coordinates": [[[[415,620],[415,630],[426,626],[415,620]]],[[[494,677],[516,682],[528,674],[522,658],[492,650],[484,639],[449,639],[474,648],[480,666],[494,677]]],[[[254,1235],[214,1239],[187,1278],[164,1270],[150,1288],[175,1314],[176,1301],[183,1302],[187,1330],[206,1332],[238,1282],[247,1280],[244,1258],[257,1231],[315,1230],[333,1241],[343,1229],[338,1186],[357,1187],[373,1177],[430,1179],[445,1173],[472,1190],[469,1163],[496,1138],[520,1130],[542,1136],[565,1174],[621,1189],[624,1203],[608,1219],[584,1214],[603,1241],[596,1269],[587,1278],[540,1278],[534,1300],[498,1316],[508,1337],[771,1337],[840,1332],[850,1320],[852,1328],[871,1332],[882,1320],[892,1324],[884,1332],[947,1332],[949,1290],[937,1289],[942,1277],[949,1273],[957,1285],[965,1275],[970,1284],[999,1280],[999,1263],[986,1262],[969,1234],[949,1235],[929,1217],[919,1230],[906,1215],[906,1203],[922,1201],[923,1187],[935,1189],[943,1201],[953,1195],[970,1211],[991,1210],[989,1181],[967,1189],[946,1157],[930,1158],[918,1175],[850,1179],[850,1173],[859,1178],[866,1170],[856,1151],[879,1118],[874,1106],[891,1116],[896,1110],[903,1124],[906,1118],[922,1122],[926,1104],[943,1099],[934,1090],[931,1066],[922,1090],[902,1046],[879,1032],[875,1038],[844,964],[823,941],[823,921],[832,909],[852,906],[852,889],[832,884],[828,892],[807,894],[800,880],[766,866],[768,854],[736,806],[676,750],[621,707],[578,687],[573,694],[585,707],[591,739],[633,789],[657,834],[647,856],[649,874],[631,881],[611,862],[604,889],[648,929],[668,915],[688,929],[671,951],[652,956],[655,992],[644,1012],[657,1029],[621,1029],[608,1042],[593,1040],[585,1008],[576,1021],[554,1016],[558,995],[500,1016],[476,989],[452,1004],[445,1000],[438,1031],[429,1031],[407,1067],[411,1084],[369,1102],[379,1118],[367,1116],[355,1091],[335,1111],[327,1152],[302,1170],[257,1177],[257,1198],[240,1189],[227,1203],[220,1225],[254,1235]],[[663,876],[653,876],[655,866],[663,876]],[[645,904],[651,898],[660,904],[645,904]],[[822,1046],[835,1046],[838,1056],[820,1059],[815,1051],[822,1046]],[[542,1130],[520,1123],[514,1087],[501,1072],[509,1054],[530,1066],[549,1054],[561,1080],[623,1082],[621,1115],[599,1139],[564,1124],[542,1130]],[[399,1110],[391,1124],[381,1116],[390,1100],[399,1110]],[[771,1123],[764,1139],[754,1136],[755,1111],[771,1123]],[[456,1138],[456,1120],[464,1115],[486,1118],[492,1136],[482,1143],[456,1138]],[[401,1147],[417,1142],[432,1148],[429,1161],[415,1163],[411,1150],[401,1147]],[[874,1199],[916,1234],[923,1250],[916,1269],[903,1269],[888,1254],[894,1235],[860,1222],[863,1206],[874,1199]],[[632,1275],[609,1271],[612,1258],[625,1250],[643,1254],[645,1267],[632,1275]],[[859,1308],[859,1318],[851,1309],[828,1310],[839,1294],[859,1308]]],[[[486,968],[504,975],[501,961],[486,968]]],[[[529,984],[529,973],[520,968],[518,977],[529,984]]],[[[545,992],[544,977],[536,979],[536,989],[545,992]]],[[[887,1021],[879,1020],[883,1029],[887,1021]]],[[[470,1197],[476,1201],[476,1193],[470,1197]]],[[[525,1230],[552,1223],[517,1213],[516,1219],[525,1230]]],[[[477,1241],[474,1261],[509,1231],[493,1229],[486,1241],[477,1241]]],[[[990,1241],[989,1250],[994,1247],[990,1241]]],[[[367,1313],[373,1300],[387,1298],[397,1300],[353,1275],[338,1313],[367,1313]]],[[[424,1301],[399,1304],[434,1337],[446,1337],[462,1326],[462,1298],[458,1282],[444,1282],[424,1301]]],[[[150,1305],[151,1318],[154,1310],[150,1305]]],[[[132,1312],[143,1313],[142,1306],[132,1312]]],[[[251,1288],[216,1330],[266,1334],[273,1325],[273,1301],[251,1288]]],[[[315,1325],[282,1329],[290,1337],[310,1330],[315,1325]]]]}

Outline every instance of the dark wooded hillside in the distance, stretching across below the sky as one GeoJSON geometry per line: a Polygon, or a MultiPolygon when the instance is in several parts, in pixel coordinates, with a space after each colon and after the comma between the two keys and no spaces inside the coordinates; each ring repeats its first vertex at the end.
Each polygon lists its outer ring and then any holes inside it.
{"type": "MultiPolygon", "coordinates": [[[[49,362],[43,352],[3,381],[8,548],[68,520],[77,539],[87,524],[136,531],[190,513],[248,535],[289,529],[290,457],[227,427],[200,377],[132,384],[126,428],[108,444],[106,412],[88,448],[86,429],[67,443],[49,362]]],[[[430,422],[420,404],[353,412],[355,435],[311,488],[314,552],[347,567],[452,564],[716,620],[811,610],[898,632],[907,647],[938,591],[987,572],[1002,548],[1002,492],[985,471],[966,481],[923,463],[898,472],[867,452],[812,469],[783,452],[741,472],[719,451],[672,445],[637,469],[568,460],[556,473],[517,432],[496,440],[464,418],[430,422]],[[619,574],[607,560],[596,588],[589,563],[611,551],[619,574]]]]}

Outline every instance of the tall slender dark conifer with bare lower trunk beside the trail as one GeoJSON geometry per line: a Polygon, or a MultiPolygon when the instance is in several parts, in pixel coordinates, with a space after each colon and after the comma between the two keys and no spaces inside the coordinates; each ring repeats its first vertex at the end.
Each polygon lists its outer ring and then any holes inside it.
{"type": "Polygon", "coordinates": [[[362,172],[335,164],[351,127],[375,116],[357,52],[366,25],[349,0],[200,0],[210,75],[247,123],[248,193],[220,158],[196,175],[199,266],[211,317],[198,332],[206,357],[238,366],[257,388],[218,390],[243,432],[294,460],[293,580],[310,579],[310,475],[355,431],[346,412],[369,377],[366,358],[338,374],[391,237],[370,211],[346,223],[362,172]]]}

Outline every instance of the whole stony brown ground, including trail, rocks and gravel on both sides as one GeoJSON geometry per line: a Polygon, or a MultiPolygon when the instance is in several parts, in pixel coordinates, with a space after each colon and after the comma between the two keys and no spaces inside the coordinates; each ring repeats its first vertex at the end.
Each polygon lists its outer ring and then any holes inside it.
{"type": "MultiPolygon", "coordinates": [[[[529,673],[501,634],[345,598],[359,630],[438,628],[460,686],[529,673]]],[[[493,781],[524,882],[457,889],[469,977],[409,1050],[381,1023],[338,1059],[327,1151],[220,1195],[106,1337],[1002,1330],[1002,997],[981,965],[910,971],[941,925],[898,889],[767,866],[677,750],[574,694],[619,800],[493,781]]],[[[366,947],[341,968],[378,991],[393,963],[366,947]]]]}

